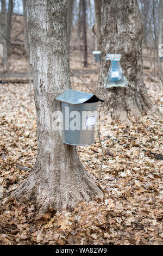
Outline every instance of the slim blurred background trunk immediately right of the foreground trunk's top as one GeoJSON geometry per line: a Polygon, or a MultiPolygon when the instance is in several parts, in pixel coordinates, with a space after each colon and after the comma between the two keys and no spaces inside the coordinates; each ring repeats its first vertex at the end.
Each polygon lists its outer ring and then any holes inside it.
{"type": "Polygon", "coordinates": [[[73,19],[73,0],[67,0],[67,42],[68,50],[70,50],[70,36],[73,19]]]}

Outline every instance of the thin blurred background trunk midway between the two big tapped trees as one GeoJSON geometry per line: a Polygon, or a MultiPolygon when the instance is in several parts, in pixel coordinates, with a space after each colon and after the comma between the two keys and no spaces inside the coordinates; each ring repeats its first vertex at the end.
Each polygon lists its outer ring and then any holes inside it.
{"type": "Polygon", "coordinates": [[[86,1],[82,0],[82,23],[83,23],[83,56],[84,66],[87,67],[87,38],[86,38],[86,1]]]}

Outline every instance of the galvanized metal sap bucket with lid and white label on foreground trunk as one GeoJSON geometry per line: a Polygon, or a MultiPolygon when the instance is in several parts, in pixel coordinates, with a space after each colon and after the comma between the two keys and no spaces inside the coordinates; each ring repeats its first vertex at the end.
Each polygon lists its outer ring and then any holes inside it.
{"type": "Polygon", "coordinates": [[[68,89],[56,100],[61,101],[62,141],[70,145],[90,145],[95,141],[98,99],[94,94],[68,89]]]}

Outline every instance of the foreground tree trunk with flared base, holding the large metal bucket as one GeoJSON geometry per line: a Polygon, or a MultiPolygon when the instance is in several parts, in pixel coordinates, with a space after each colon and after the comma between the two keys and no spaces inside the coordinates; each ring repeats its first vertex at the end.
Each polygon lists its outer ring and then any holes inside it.
{"type": "Polygon", "coordinates": [[[39,215],[48,209],[72,209],[82,200],[102,197],[80,162],[77,147],[54,130],[55,100],[71,87],[67,51],[66,0],[28,0],[27,21],[37,113],[37,158],[32,173],[11,195],[31,200],[39,215]]]}

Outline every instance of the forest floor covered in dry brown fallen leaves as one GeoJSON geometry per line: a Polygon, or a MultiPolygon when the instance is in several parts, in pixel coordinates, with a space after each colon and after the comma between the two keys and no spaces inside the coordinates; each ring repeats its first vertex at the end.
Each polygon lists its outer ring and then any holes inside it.
{"type": "MultiPolygon", "coordinates": [[[[152,70],[147,58],[144,65],[148,94],[162,112],[163,86],[158,78],[153,77],[151,81],[152,70]]],[[[27,63],[20,62],[12,71],[26,72],[27,67],[27,63]]],[[[71,54],[71,70],[94,90],[99,63],[95,63],[92,54],[89,54],[87,69],[83,68],[79,52],[71,54]]],[[[74,89],[89,92],[77,77],[72,76],[71,81],[74,89]]],[[[146,116],[132,127],[124,127],[111,121],[109,114],[108,118],[104,116],[101,120],[101,139],[105,156],[100,182],[102,150],[97,132],[95,144],[78,147],[87,172],[105,193],[104,201],[81,202],[71,212],[48,213],[37,220],[34,205],[8,200],[35,163],[34,99],[32,97],[30,102],[29,84],[21,83],[1,84],[0,95],[1,245],[163,243],[163,159],[156,156],[163,155],[161,118],[146,116]]]]}

